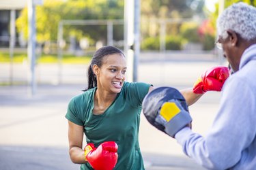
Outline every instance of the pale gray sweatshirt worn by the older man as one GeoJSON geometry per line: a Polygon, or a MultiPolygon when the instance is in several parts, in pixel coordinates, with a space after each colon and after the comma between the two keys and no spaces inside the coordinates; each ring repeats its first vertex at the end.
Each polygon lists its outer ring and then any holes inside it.
{"type": "Polygon", "coordinates": [[[239,71],[226,80],[208,134],[186,127],[175,139],[207,169],[256,169],[256,44],[244,51],[239,71]]]}

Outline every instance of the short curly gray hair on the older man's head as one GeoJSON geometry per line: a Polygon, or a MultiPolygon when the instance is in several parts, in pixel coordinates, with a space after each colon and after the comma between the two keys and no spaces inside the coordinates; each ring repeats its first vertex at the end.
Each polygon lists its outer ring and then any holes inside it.
{"type": "Polygon", "coordinates": [[[218,17],[218,35],[227,37],[227,30],[238,33],[243,39],[256,38],[256,8],[243,2],[234,3],[218,17]]]}

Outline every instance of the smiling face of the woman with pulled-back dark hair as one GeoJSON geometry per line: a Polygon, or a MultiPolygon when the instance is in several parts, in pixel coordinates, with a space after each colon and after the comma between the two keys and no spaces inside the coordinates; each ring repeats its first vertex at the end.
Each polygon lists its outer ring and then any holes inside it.
{"type": "Polygon", "coordinates": [[[104,58],[102,67],[95,67],[98,89],[119,93],[126,80],[126,58],[122,54],[110,54],[104,58]]]}

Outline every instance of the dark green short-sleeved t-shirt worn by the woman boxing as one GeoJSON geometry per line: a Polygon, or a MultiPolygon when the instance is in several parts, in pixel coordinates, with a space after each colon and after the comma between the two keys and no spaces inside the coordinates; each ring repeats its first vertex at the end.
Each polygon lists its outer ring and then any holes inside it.
{"type": "MultiPolygon", "coordinates": [[[[150,84],[124,82],[115,101],[101,115],[92,113],[96,88],[91,88],[71,99],[66,118],[84,126],[87,143],[96,147],[104,141],[117,143],[115,169],[144,169],[138,136],[141,103],[149,88],[150,84]]],[[[81,169],[92,168],[86,163],[81,169]]]]}

